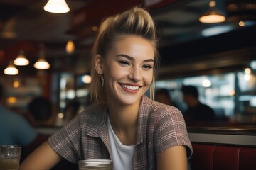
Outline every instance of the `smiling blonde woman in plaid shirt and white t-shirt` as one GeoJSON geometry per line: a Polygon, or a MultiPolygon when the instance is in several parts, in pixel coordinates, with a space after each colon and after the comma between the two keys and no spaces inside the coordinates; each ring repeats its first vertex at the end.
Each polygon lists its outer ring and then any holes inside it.
{"type": "Polygon", "coordinates": [[[50,169],[65,158],[112,159],[114,169],[187,169],[191,142],[178,109],[154,102],[159,58],[154,21],[134,7],[107,18],[92,49],[85,109],[38,147],[21,170],[50,169]]]}

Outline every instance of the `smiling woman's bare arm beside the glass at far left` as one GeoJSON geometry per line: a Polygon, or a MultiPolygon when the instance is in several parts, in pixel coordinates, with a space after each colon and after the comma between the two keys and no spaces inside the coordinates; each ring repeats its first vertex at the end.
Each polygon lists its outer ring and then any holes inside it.
{"type": "Polygon", "coordinates": [[[62,158],[53,150],[48,142],[43,142],[22,163],[20,170],[46,170],[58,164],[62,158]]]}

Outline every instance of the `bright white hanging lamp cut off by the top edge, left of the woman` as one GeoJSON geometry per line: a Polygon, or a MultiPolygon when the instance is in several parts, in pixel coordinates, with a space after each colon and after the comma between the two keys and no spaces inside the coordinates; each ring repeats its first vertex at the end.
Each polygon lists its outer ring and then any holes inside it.
{"type": "Polygon", "coordinates": [[[70,11],[65,0],[49,0],[43,9],[50,13],[67,13],[70,11]]]}

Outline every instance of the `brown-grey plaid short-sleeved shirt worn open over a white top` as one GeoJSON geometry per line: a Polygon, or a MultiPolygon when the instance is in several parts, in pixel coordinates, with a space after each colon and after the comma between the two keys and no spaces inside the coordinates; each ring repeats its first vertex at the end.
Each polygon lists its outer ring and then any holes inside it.
{"type": "MultiPolygon", "coordinates": [[[[50,146],[73,163],[82,159],[111,159],[107,114],[107,106],[85,109],[49,138],[50,146]]],[[[134,170],[156,169],[156,156],[176,145],[186,146],[188,159],[192,154],[181,112],[146,96],[142,96],[139,106],[136,145],[134,170]]]]}

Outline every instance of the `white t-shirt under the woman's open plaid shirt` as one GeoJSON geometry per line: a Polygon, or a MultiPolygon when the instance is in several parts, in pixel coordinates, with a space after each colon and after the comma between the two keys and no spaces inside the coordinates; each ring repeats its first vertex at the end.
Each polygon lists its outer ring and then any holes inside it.
{"type": "Polygon", "coordinates": [[[132,170],[132,158],[136,145],[123,145],[112,129],[110,118],[107,120],[114,170],[132,170]]]}

